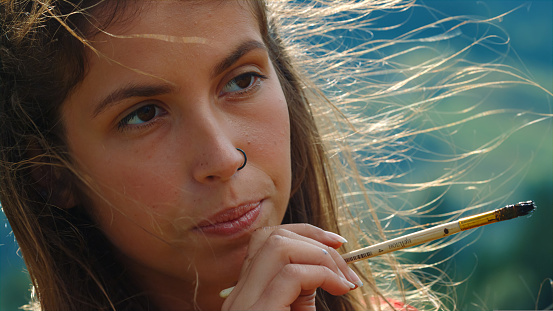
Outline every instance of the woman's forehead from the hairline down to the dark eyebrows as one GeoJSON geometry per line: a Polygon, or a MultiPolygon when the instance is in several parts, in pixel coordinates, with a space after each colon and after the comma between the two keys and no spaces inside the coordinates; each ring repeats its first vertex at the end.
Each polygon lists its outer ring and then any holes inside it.
{"type": "Polygon", "coordinates": [[[95,51],[77,90],[91,101],[120,81],[197,78],[241,43],[263,41],[249,1],[138,2],[89,40],[95,51]]]}

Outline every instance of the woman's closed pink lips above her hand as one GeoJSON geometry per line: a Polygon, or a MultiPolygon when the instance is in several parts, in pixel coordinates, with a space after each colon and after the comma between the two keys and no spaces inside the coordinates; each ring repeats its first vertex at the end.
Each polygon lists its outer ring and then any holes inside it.
{"type": "Polygon", "coordinates": [[[224,210],[200,222],[194,229],[204,234],[234,235],[252,227],[261,212],[261,201],[224,210]]]}

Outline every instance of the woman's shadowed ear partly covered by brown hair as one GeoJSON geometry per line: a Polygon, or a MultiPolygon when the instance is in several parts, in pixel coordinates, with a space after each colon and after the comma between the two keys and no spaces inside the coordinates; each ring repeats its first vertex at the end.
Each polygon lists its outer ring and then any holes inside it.
{"type": "Polygon", "coordinates": [[[76,186],[72,174],[61,163],[54,163],[38,143],[29,144],[27,155],[32,163],[30,178],[32,187],[45,203],[62,209],[77,205],[76,186]]]}

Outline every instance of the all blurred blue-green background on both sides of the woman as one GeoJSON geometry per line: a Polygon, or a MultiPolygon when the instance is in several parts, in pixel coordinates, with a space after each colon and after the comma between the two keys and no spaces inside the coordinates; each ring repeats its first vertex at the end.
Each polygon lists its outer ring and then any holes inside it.
{"type": "MultiPolygon", "coordinates": [[[[449,15],[496,16],[514,8],[498,24],[510,36],[511,50],[505,60],[522,73],[553,90],[553,1],[424,1],[429,8],[449,15]]],[[[416,17],[413,17],[416,18],[416,17]]],[[[495,91],[486,99],[487,109],[517,108],[551,114],[551,98],[536,88],[495,91]]],[[[519,116],[524,118],[524,115],[519,116]]],[[[508,115],[474,123],[455,134],[455,144],[474,146],[482,133],[509,128],[508,115]]],[[[516,122],[521,122],[516,120],[516,122]]],[[[484,135],[485,136],[485,135],[484,135]]],[[[417,143],[435,147],[428,138],[417,143]]],[[[427,163],[413,172],[429,176],[443,170],[427,163]]],[[[510,135],[472,170],[467,179],[497,177],[490,194],[480,188],[482,201],[497,200],[498,206],[534,200],[538,210],[532,217],[478,229],[469,237],[441,250],[433,260],[453,259],[443,267],[454,281],[458,310],[543,310],[553,308],[553,135],[551,118],[524,127],[510,135]],[[506,171],[505,175],[501,175],[506,171]],[[514,175],[513,175],[514,174],[514,175]],[[509,176],[515,176],[509,178],[509,176]],[[466,241],[466,243],[464,242],[466,241]]],[[[470,203],[466,190],[451,189],[436,213],[462,208],[470,203]]],[[[474,193],[471,193],[474,195],[474,193]]],[[[424,260],[425,255],[410,259],[424,260]],[[423,257],[420,257],[423,256],[423,257]]],[[[29,280],[17,253],[9,224],[0,214],[0,310],[17,310],[30,296],[29,280]]]]}

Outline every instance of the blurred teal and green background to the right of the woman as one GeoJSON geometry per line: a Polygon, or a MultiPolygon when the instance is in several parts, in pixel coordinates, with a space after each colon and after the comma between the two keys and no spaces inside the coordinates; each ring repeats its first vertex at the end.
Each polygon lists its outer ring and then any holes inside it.
{"type": "MultiPolygon", "coordinates": [[[[494,22],[500,28],[486,28],[472,32],[463,31],[462,36],[486,33],[510,38],[509,45],[488,45],[489,49],[476,47],[469,57],[478,62],[493,62],[494,57],[505,57],[503,63],[519,68],[519,73],[537,82],[548,92],[553,90],[553,1],[421,1],[436,11],[426,15],[444,16],[498,16],[507,14],[494,22]],[[441,15],[444,13],[444,15],[441,15]],[[474,53],[479,53],[474,55],[474,53]],[[479,59],[478,59],[479,58],[479,59]]],[[[417,18],[424,16],[414,14],[417,18]]],[[[428,20],[426,21],[428,22],[428,20]]],[[[420,21],[424,23],[424,21],[420,21]]],[[[475,27],[476,28],[476,27],[475,27]]],[[[476,36],[475,36],[476,37],[476,36]]],[[[468,38],[470,39],[470,38],[468,38]]],[[[495,39],[491,39],[493,42],[495,39]]],[[[456,39],[445,48],[456,47],[456,39]]],[[[538,209],[531,217],[498,223],[474,230],[458,243],[450,245],[430,262],[452,257],[439,268],[447,272],[456,286],[458,310],[553,310],[553,132],[551,96],[538,88],[515,86],[495,90],[474,90],[470,96],[446,99],[438,105],[436,124],[444,124],[448,109],[459,111],[471,103],[480,105],[471,113],[494,109],[520,109],[548,114],[541,122],[520,128],[505,138],[496,149],[482,155],[472,163],[469,174],[461,180],[486,180],[481,185],[455,185],[434,189],[432,194],[421,197],[411,195],[411,207],[445,195],[440,199],[434,214],[448,213],[468,205],[494,201],[486,210],[506,204],[534,200],[538,209]],[[472,97],[471,97],[472,96],[472,97]]],[[[427,120],[428,120],[427,119],[427,120]]],[[[457,118],[459,119],[459,118],[457,118]]],[[[452,119],[453,120],[453,119],[452,119]]],[[[441,176],[447,165],[432,162],[430,155],[455,154],[474,150],[482,143],[506,133],[509,128],[530,122],[529,115],[505,113],[481,120],[467,122],[456,127],[449,140],[423,135],[415,138],[417,151],[411,154],[413,163],[410,175],[441,176]],[[455,146],[448,146],[449,143],[455,146]],[[430,161],[417,161],[426,158],[430,161]]],[[[429,178],[432,179],[432,178],[429,178]]],[[[416,180],[416,178],[415,178],[416,180]]],[[[405,181],[409,181],[406,179],[405,181]]],[[[430,191],[432,192],[432,191],[430,191]]],[[[474,213],[469,213],[474,214],[474,213]]],[[[431,217],[422,221],[435,221],[431,217]]],[[[413,262],[424,262],[429,254],[406,253],[413,262]]]]}

